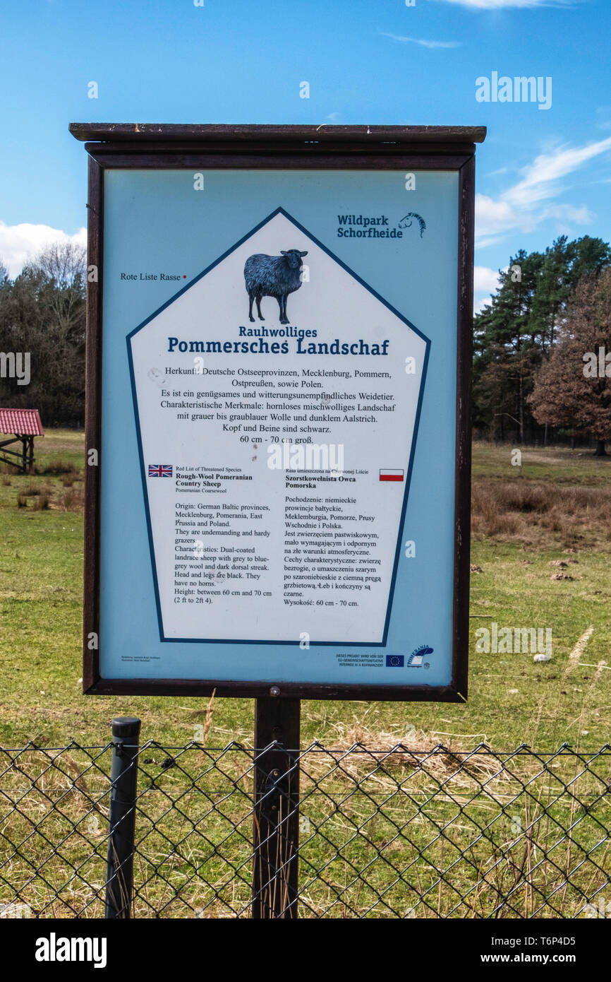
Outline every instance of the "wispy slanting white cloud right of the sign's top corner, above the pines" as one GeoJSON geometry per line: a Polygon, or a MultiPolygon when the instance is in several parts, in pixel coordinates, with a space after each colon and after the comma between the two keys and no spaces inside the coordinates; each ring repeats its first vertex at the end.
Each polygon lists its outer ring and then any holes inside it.
{"type": "MultiPolygon", "coordinates": [[[[585,205],[552,204],[565,189],[561,179],[577,171],[587,161],[611,150],[611,137],[586,146],[559,146],[541,153],[522,169],[522,177],[498,198],[476,195],[476,232],[480,247],[490,246],[505,233],[519,229],[533,232],[541,222],[553,219],[586,225],[594,215],[585,205]],[[548,203],[545,203],[548,202],[548,203]]],[[[566,226],[563,225],[563,229],[566,226]]]]}

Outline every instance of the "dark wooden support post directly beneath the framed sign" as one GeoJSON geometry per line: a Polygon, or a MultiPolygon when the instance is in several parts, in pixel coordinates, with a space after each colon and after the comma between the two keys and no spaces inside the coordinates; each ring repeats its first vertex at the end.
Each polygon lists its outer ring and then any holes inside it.
{"type": "Polygon", "coordinates": [[[255,700],[252,916],[260,920],[297,916],[301,706],[279,695],[255,700]]]}

